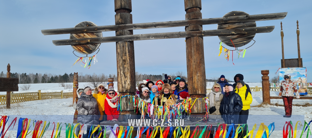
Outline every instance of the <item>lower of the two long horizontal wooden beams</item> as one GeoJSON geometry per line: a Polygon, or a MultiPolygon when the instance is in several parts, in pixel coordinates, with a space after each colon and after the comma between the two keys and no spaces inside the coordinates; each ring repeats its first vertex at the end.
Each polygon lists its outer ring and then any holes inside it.
{"type": "Polygon", "coordinates": [[[80,44],[107,43],[107,42],[117,42],[117,41],[185,38],[185,37],[194,37],[194,36],[238,35],[238,34],[249,34],[249,33],[267,33],[267,32],[273,31],[274,27],[275,26],[261,26],[261,27],[247,27],[247,28],[204,30],[204,31],[153,33],[153,34],[139,34],[139,35],[125,35],[125,36],[52,40],[52,42],[54,45],[80,45],[80,44]]]}

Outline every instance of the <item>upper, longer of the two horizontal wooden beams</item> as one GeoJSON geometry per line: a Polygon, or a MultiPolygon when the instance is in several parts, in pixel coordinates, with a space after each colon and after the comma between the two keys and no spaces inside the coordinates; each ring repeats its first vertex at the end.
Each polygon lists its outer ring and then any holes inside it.
{"type": "Polygon", "coordinates": [[[287,15],[287,12],[280,12],[280,13],[257,14],[257,15],[249,15],[249,16],[246,15],[246,16],[235,16],[235,17],[181,20],[181,21],[163,21],[163,22],[121,24],[121,25],[109,25],[109,26],[90,26],[90,27],[76,27],[76,28],[63,28],[63,29],[48,29],[48,30],[41,30],[41,32],[43,35],[57,35],[57,34],[101,32],[101,31],[178,27],[178,26],[190,26],[190,25],[207,25],[207,24],[244,22],[244,21],[266,21],[266,20],[284,19],[286,15],[287,15]]]}

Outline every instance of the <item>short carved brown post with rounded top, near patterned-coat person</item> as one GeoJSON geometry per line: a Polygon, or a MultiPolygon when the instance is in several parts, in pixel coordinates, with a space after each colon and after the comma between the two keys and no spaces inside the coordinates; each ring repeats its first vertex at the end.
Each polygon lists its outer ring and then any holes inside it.
{"type": "Polygon", "coordinates": [[[271,104],[270,99],[270,81],[269,81],[269,70],[261,70],[262,76],[262,102],[271,104]]]}

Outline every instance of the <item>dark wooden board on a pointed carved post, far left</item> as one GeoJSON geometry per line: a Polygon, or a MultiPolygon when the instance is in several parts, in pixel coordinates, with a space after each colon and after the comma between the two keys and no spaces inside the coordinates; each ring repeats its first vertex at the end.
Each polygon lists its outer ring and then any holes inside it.
{"type": "Polygon", "coordinates": [[[0,92],[7,92],[7,109],[11,108],[11,92],[18,91],[18,78],[11,78],[11,66],[7,64],[7,78],[0,78],[0,92]]]}

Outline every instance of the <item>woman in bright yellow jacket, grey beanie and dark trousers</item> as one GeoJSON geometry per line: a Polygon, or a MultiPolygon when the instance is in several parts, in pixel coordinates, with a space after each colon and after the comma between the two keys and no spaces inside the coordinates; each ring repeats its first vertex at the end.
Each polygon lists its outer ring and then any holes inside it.
{"type": "MultiPolygon", "coordinates": [[[[241,101],[243,102],[243,109],[241,109],[241,112],[239,113],[239,119],[238,119],[239,124],[247,124],[247,119],[248,119],[248,114],[249,114],[248,109],[250,109],[250,104],[252,102],[251,93],[247,92],[246,90],[247,90],[247,87],[244,81],[239,80],[236,82],[235,93],[241,96],[241,101]]],[[[244,128],[243,134],[242,133],[238,134],[238,137],[246,136],[246,133],[245,133],[246,130],[247,130],[247,127],[244,128]]]]}

